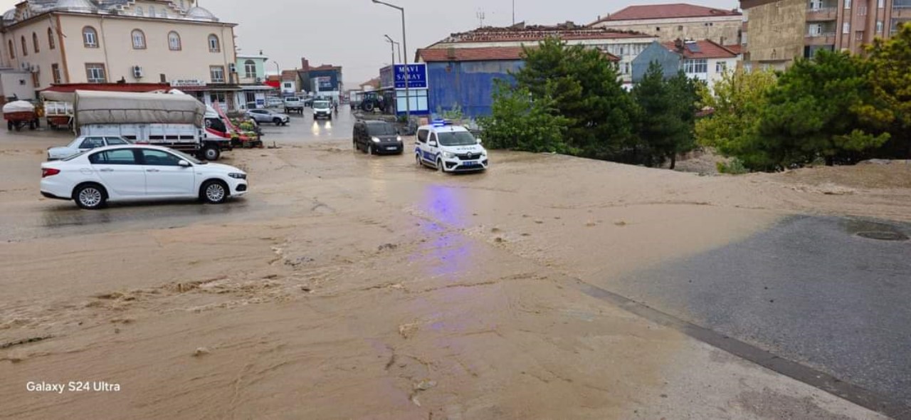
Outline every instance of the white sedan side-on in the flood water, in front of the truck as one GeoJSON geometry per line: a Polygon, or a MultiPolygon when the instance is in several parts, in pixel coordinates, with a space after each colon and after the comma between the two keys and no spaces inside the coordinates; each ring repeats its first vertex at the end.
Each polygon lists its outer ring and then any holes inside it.
{"type": "Polygon", "coordinates": [[[219,204],[246,192],[247,174],[241,169],[158,146],[108,146],[41,164],[41,195],[76,200],[89,210],[127,200],[219,204]]]}

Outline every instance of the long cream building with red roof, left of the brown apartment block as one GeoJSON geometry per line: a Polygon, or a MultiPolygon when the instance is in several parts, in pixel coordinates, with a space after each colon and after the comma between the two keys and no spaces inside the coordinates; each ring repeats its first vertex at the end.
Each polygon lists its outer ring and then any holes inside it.
{"type": "Polygon", "coordinates": [[[593,27],[608,27],[676,39],[710,39],[722,46],[741,43],[741,13],[701,5],[630,5],[599,18],[593,27]]]}

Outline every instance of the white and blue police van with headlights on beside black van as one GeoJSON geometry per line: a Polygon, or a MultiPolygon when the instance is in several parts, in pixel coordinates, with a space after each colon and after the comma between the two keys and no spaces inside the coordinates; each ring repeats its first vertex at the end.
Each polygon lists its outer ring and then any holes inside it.
{"type": "Polygon", "coordinates": [[[475,138],[467,128],[435,120],[431,125],[417,128],[415,160],[418,165],[443,172],[484,170],[487,150],[481,146],[481,139],[475,138]]]}

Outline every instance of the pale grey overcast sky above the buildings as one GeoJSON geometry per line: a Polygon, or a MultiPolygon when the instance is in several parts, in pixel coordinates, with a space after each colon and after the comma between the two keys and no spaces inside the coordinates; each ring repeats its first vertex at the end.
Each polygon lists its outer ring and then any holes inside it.
{"type": "MultiPolygon", "coordinates": [[[[21,0],[0,0],[2,10],[21,0]]],[[[408,49],[428,46],[454,32],[478,26],[477,13],[485,25],[506,26],[512,22],[512,0],[386,0],[405,8],[408,49]]],[[[685,1],[685,0],[684,0],[685,1]]],[[[680,3],[681,0],[515,0],[516,21],[555,24],[571,20],[590,23],[627,5],[680,3]]],[[[695,0],[689,3],[732,9],[736,0],[695,0]]],[[[235,35],[242,54],[262,50],[270,57],[271,72],[278,61],[282,69],[301,67],[301,56],[312,66],[343,66],[348,88],[376,77],[390,62],[390,46],[384,34],[402,39],[401,15],[371,0],[200,0],[223,22],[238,24],[235,35]]],[[[2,13],[2,12],[0,12],[2,13]]],[[[397,55],[398,53],[396,53],[397,55]]],[[[396,56],[396,59],[398,57],[396,56]]]]}

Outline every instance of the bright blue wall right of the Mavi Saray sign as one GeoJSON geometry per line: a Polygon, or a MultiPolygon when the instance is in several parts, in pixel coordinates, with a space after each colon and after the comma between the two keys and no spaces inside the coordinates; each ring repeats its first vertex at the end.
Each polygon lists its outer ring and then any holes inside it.
{"type": "Polygon", "coordinates": [[[522,60],[452,61],[427,63],[428,106],[432,114],[458,105],[466,117],[490,115],[494,80],[512,83],[509,72],[525,66],[522,60]]]}

